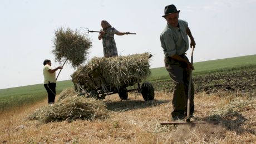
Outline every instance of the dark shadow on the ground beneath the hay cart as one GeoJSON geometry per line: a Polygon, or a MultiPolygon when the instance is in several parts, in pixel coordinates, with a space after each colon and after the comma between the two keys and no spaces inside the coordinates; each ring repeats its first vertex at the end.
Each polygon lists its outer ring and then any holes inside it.
{"type": "Polygon", "coordinates": [[[167,102],[170,102],[170,100],[122,100],[106,102],[106,106],[107,109],[111,111],[129,111],[134,109],[145,109],[146,107],[153,107],[167,102]]]}

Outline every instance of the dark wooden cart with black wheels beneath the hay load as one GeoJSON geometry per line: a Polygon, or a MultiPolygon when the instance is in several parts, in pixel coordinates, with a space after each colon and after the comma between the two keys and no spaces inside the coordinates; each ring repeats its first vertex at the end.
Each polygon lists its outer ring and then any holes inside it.
{"type": "MultiPolygon", "coordinates": [[[[81,75],[82,76],[82,75],[81,75]]],[[[106,95],[119,94],[121,100],[127,100],[128,92],[139,92],[145,101],[154,100],[154,87],[149,82],[142,83],[142,80],[135,80],[130,76],[126,83],[117,88],[110,79],[105,79],[99,71],[92,71],[89,79],[79,81],[75,85],[75,89],[83,93],[90,93],[89,96],[97,99],[104,99],[106,95]]]]}

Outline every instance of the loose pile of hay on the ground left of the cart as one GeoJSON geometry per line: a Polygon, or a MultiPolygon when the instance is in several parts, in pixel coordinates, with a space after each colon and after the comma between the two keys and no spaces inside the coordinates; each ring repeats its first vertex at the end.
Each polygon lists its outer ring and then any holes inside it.
{"type": "Polygon", "coordinates": [[[27,118],[40,120],[44,123],[52,121],[72,121],[76,119],[93,120],[104,119],[108,116],[103,101],[84,96],[68,96],[60,102],[36,110],[27,118]]]}

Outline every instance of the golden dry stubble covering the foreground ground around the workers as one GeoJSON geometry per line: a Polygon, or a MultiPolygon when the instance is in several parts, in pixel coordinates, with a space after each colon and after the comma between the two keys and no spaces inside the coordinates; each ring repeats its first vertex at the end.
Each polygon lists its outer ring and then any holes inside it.
{"type": "MultiPolygon", "coordinates": [[[[72,122],[27,121],[26,115],[45,103],[1,115],[0,142],[7,143],[255,143],[255,97],[247,94],[219,92],[195,96],[195,115],[208,121],[205,125],[161,126],[170,120],[171,94],[156,93],[154,101],[129,94],[120,101],[118,95],[104,100],[110,116],[104,120],[72,122]],[[235,104],[234,101],[237,101],[235,104]],[[246,102],[247,105],[244,105],[246,102]],[[225,107],[237,111],[227,114],[225,107]],[[239,108],[237,109],[237,105],[239,108]],[[249,105],[249,106],[248,106],[249,105]],[[218,112],[217,112],[218,111],[218,112]],[[219,115],[218,121],[213,116],[219,115]],[[232,115],[235,119],[231,119],[232,115]],[[224,116],[224,117],[223,117],[224,116]],[[237,120],[242,123],[237,123],[237,120]],[[227,122],[229,121],[229,123],[227,122]]],[[[216,118],[216,117],[215,117],[216,118]]]]}

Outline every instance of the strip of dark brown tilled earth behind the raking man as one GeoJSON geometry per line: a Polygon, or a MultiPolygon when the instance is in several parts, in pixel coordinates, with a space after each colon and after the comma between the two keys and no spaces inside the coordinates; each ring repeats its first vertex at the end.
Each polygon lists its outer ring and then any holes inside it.
{"type": "MultiPolygon", "coordinates": [[[[256,70],[229,71],[228,73],[214,73],[203,76],[193,76],[195,92],[205,91],[207,94],[216,91],[256,92],[256,70]]],[[[173,92],[173,81],[157,81],[152,83],[155,90],[173,92]]]]}

